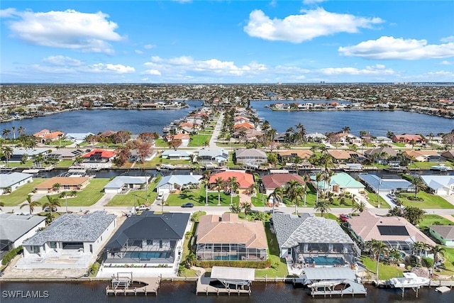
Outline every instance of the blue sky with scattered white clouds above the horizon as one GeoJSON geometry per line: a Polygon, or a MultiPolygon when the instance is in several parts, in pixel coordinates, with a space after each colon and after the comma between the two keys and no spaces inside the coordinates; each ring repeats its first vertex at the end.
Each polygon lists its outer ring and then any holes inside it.
{"type": "Polygon", "coordinates": [[[454,82],[454,1],[1,1],[0,81],[454,82]]]}

